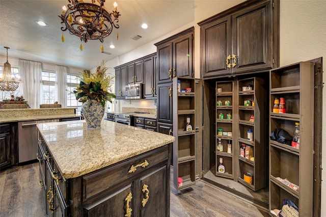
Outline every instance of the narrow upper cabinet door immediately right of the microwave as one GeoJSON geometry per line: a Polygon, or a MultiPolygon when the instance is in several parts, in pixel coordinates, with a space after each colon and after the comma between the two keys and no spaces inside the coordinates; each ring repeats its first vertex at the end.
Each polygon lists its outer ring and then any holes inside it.
{"type": "Polygon", "coordinates": [[[144,98],[150,98],[153,96],[154,91],[154,59],[149,57],[144,60],[144,98]]]}

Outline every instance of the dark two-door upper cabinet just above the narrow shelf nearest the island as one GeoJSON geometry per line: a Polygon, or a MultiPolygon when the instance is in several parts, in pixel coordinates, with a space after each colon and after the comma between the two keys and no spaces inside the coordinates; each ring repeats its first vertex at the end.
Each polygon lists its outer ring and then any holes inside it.
{"type": "Polygon", "coordinates": [[[194,77],[194,27],[155,44],[157,46],[157,84],[173,77],[194,77]]]}

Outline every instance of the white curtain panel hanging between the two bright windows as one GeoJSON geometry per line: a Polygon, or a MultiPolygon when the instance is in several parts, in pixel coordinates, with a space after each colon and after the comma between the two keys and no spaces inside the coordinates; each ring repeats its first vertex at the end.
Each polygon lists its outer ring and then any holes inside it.
{"type": "Polygon", "coordinates": [[[62,107],[67,106],[67,67],[57,66],[57,90],[58,103],[62,107]]]}

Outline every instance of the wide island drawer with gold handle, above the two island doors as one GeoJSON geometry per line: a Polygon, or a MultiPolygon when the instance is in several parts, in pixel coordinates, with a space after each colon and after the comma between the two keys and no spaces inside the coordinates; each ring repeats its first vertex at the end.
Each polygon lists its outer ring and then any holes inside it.
{"type": "Polygon", "coordinates": [[[125,181],[126,179],[129,179],[132,176],[137,176],[139,173],[142,173],[147,169],[152,168],[160,162],[168,160],[168,157],[169,146],[165,145],[140,156],[127,159],[124,162],[103,169],[99,172],[84,176],[83,201],[86,201],[92,198],[93,196],[96,196],[105,191],[108,191],[110,187],[113,187],[125,181]]]}

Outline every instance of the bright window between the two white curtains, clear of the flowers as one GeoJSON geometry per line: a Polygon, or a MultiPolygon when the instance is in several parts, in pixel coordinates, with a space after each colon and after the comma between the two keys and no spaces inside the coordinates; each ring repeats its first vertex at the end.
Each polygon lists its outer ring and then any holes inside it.
{"type": "Polygon", "coordinates": [[[55,103],[56,96],[56,73],[42,71],[42,94],[41,104],[55,103]]]}

